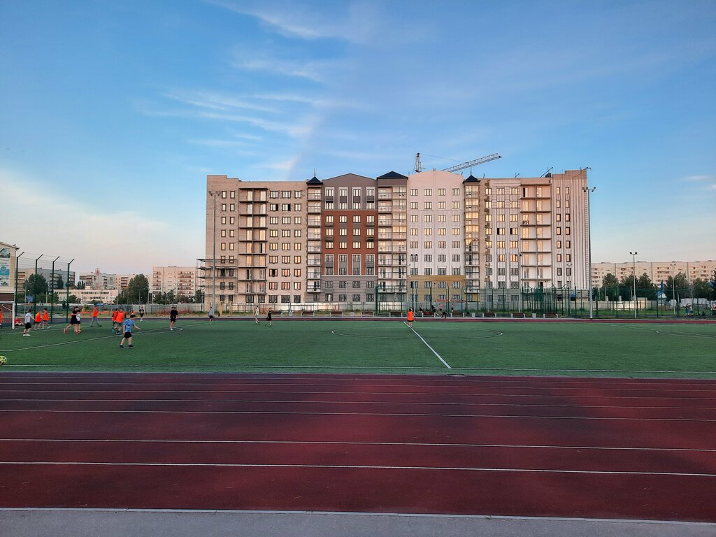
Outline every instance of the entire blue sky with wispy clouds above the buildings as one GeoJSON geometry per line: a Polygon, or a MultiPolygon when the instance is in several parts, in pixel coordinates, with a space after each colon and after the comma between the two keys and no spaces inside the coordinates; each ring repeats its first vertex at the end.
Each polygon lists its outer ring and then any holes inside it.
{"type": "Polygon", "coordinates": [[[715,28],[716,1],[0,0],[0,241],[193,265],[208,173],[500,153],[475,175],[591,168],[594,261],[716,259],[715,28]]]}

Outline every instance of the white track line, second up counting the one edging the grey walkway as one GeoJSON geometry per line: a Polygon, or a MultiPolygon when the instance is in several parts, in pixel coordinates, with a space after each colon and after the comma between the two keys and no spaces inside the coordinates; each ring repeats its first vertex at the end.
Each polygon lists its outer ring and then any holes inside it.
{"type": "Polygon", "coordinates": [[[158,466],[170,468],[317,468],[352,470],[446,470],[453,472],[513,472],[513,473],[571,473],[597,475],[663,475],[687,478],[716,478],[716,473],[681,472],[628,472],[616,470],[549,470],[546,468],[480,468],[470,466],[391,466],[391,465],[339,465],[339,464],[241,464],[241,463],[103,463],[100,461],[53,462],[0,460],[0,465],[69,465],[69,466],[158,466]]]}

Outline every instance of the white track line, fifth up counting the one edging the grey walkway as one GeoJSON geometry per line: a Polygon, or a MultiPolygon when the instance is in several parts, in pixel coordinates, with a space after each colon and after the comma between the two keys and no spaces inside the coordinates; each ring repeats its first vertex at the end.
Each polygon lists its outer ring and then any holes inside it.
{"type": "Polygon", "coordinates": [[[458,406],[458,407],[533,407],[533,408],[600,408],[614,410],[715,410],[716,407],[661,407],[661,406],[619,406],[619,405],[549,405],[527,403],[500,403],[500,402],[422,402],[422,401],[311,401],[304,399],[0,399],[0,402],[164,402],[164,403],[275,403],[286,405],[296,403],[299,405],[425,405],[425,406],[458,406]]]}

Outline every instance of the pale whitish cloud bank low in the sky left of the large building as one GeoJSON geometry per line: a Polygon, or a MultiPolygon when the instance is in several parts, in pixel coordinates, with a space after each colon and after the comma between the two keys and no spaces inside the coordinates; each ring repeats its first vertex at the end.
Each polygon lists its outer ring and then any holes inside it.
{"type": "Polygon", "coordinates": [[[74,258],[75,271],[150,274],[152,266],[193,264],[203,255],[203,226],[181,221],[178,232],[171,215],[132,209],[135,194],[121,188],[116,198],[91,200],[68,195],[62,183],[0,169],[0,191],[4,241],[21,251],[74,258]]]}

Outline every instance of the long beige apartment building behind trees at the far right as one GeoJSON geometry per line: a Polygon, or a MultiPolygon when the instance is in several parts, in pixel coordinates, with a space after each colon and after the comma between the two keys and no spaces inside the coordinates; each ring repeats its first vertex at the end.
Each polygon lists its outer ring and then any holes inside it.
{"type": "Polygon", "coordinates": [[[716,261],[623,261],[621,263],[592,263],[591,281],[601,287],[604,276],[614,274],[617,280],[628,278],[636,269],[637,278],[646,273],[654,284],[660,284],[672,276],[682,273],[688,281],[697,278],[709,280],[716,270],[716,261]]]}

